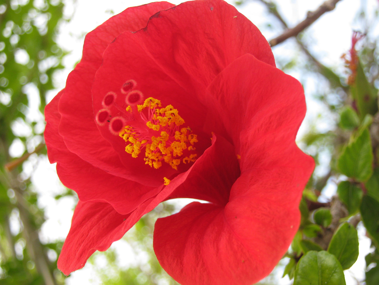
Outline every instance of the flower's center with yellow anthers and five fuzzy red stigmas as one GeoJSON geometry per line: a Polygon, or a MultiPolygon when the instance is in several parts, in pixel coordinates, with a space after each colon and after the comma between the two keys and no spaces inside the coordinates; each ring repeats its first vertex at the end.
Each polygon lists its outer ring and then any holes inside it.
{"type": "Polygon", "coordinates": [[[191,128],[181,127],[184,120],[178,110],[172,105],[161,108],[161,101],[152,97],[142,103],[143,93],[132,90],[135,86],[136,82],[129,80],[121,87],[122,93],[128,91],[126,109],[115,102],[116,93],[108,92],[103,99],[104,109],[97,113],[96,122],[99,125],[109,122],[110,132],[128,143],[125,151],[132,157],[137,158],[144,150],[145,164],[151,167],[158,169],[165,162],[177,170],[180,163],[194,162],[197,157],[194,152],[197,135],[192,133],[191,128]],[[122,116],[112,117],[111,106],[122,116]]]}

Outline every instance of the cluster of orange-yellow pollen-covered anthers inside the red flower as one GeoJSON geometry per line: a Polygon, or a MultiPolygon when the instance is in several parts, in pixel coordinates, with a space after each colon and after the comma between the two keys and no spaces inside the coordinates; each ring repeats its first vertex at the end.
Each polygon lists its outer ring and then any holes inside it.
{"type": "MultiPolygon", "coordinates": [[[[147,128],[140,131],[140,127],[135,127],[132,122],[129,122],[130,125],[120,131],[119,136],[128,143],[125,151],[136,158],[141,150],[145,149],[145,164],[155,169],[162,166],[162,161],[175,170],[181,162],[196,161],[197,154],[193,152],[197,135],[193,134],[189,127],[180,128],[185,122],[172,105],[166,108],[158,107],[161,107],[161,101],[152,97],[147,98],[142,105],[137,105],[139,114],[134,114],[134,116],[140,116],[146,122],[147,128]]],[[[131,106],[128,106],[126,110],[135,112],[131,106]]],[[[168,185],[169,181],[167,182],[165,177],[167,183],[165,185],[168,185]]]]}

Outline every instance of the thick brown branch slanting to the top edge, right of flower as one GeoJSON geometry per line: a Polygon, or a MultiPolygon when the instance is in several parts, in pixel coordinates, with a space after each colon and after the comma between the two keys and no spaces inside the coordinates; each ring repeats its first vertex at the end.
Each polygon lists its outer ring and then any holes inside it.
{"type": "Polygon", "coordinates": [[[315,22],[319,17],[321,17],[321,15],[323,15],[326,12],[332,11],[335,8],[337,2],[339,1],[341,0],[328,0],[321,4],[321,6],[319,6],[315,11],[309,11],[304,21],[300,22],[295,27],[286,30],[284,33],[282,33],[282,35],[270,40],[269,43],[271,47],[282,43],[291,36],[297,36],[305,28],[309,27],[313,22],[315,22]]]}

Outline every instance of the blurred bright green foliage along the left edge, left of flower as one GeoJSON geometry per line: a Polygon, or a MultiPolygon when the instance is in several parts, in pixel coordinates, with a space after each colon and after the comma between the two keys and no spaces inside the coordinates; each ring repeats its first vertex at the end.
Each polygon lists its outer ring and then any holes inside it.
{"type": "MultiPolygon", "coordinates": [[[[63,51],[55,42],[63,3],[55,1],[0,1],[0,284],[58,285],[63,274],[47,252],[58,255],[62,242],[42,244],[39,229],[44,211],[30,177],[21,179],[22,165],[4,168],[12,161],[9,147],[17,140],[25,149],[42,142],[45,95],[53,89],[52,74],[63,68],[63,51]],[[45,21],[41,21],[45,19],[45,21]],[[28,91],[33,89],[33,94],[28,91]],[[28,94],[28,96],[27,96],[28,94]],[[33,109],[32,106],[35,106],[33,109]],[[28,111],[41,119],[31,119],[28,111]],[[19,123],[29,130],[19,134],[11,126],[19,123]],[[17,213],[22,227],[12,232],[11,216],[17,213]]],[[[43,145],[42,145],[43,146],[43,145]]],[[[42,153],[45,152],[42,147],[42,153]]],[[[14,224],[13,224],[14,225],[14,224]]]]}

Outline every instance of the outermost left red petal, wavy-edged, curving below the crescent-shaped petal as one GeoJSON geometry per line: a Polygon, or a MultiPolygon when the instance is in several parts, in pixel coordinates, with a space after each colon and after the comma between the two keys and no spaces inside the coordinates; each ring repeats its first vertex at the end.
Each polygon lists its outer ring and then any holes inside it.
{"type": "MultiPolygon", "coordinates": [[[[55,112],[64,90],[46,106],[47,120],[45,141],[50,163],[57,162],[57,173],[62,183],[75,190],[81,201],[102,200],[110,203],[116,211],[127,214],[148,198],[157,195],[159,188],[141,185],[113,176],[94,167],[70,152],[58,134],[60,114],[55,112]]],[[[161,181],[162,184],[163,180],[161,181]]]]}

